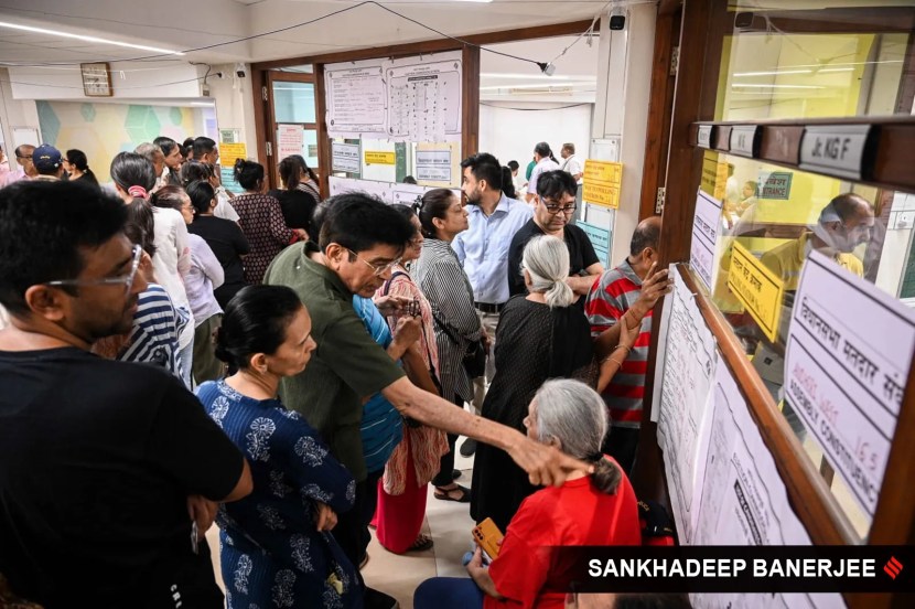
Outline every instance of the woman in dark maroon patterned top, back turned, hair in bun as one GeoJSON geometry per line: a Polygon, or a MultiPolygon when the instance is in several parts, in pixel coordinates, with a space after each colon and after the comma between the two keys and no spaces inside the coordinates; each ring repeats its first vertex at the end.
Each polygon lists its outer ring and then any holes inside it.
{"type": "Polygon", "coordinates": [[[263,281],[267,267],[283,248],[297,241],[306,239],[302,228],[286,225],[280,202],[263,194],[263,165],[254,161],[235,161],[235,181],[245,194],[233,199],[238,213],[238,225],[248,239],[251,250],[245,258],[245,280],[257,285],[263,281]]]}

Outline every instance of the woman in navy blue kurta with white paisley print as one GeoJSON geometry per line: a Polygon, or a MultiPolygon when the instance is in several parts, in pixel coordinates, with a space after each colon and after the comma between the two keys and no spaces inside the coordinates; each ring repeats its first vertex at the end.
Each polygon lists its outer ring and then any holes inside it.
{"type": "Polygon", "coordinates": [[[362,607],[362,581],[330,532],[353,506],[355,482],[276,397],[279,380],[304,370],[314,348],[294,292],[245,288],[226,308],[216,346],[238,373],[197,391],[254,478],[254,492],[216,516],[229,609],[362,607]]]}

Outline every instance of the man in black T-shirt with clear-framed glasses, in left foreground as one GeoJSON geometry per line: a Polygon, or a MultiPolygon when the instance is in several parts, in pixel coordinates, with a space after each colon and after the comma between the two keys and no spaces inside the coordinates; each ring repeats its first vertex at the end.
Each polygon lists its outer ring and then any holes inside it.
{"type": "Polygon", "coordinates": [[[216,609],[203,534],[247,461],[180,381],[89,353],[147,288],[127,213],[82,181],[0,191],[0,573],[46,607],[216,609]]]}

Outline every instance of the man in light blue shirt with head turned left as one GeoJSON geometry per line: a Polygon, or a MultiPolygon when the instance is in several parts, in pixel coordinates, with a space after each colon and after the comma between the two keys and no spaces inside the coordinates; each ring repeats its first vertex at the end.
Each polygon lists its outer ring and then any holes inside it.
{"type": "MultiPolygon", "coordinates": [[[[476,312],[489,339],[486,376],[474,381],[473,407],[480,413],[487,383],[495,374],[493,346],[498,316],[508,300],[508,246],[515,233],[530,220],[532,211],[502,192],[502,165],[492,154],[481,152],[467,157],[461,168],[461,190],[467,197],[470,227],[454,238],[451,247],[464,265],[476,312]]],[[[461,453],[467,457],[474,449],[475,444],[467,440],[461,453]]]]}

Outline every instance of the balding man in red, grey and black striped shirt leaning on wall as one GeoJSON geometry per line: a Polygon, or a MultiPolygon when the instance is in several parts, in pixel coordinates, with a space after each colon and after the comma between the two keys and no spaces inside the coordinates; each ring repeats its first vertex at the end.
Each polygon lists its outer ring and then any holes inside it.
{"type": "MultiPolygon", "coordinates": [[[[616,268],[601,276],[584,304],[591,323],[591,335],[598,338],[611,330],[623,313],[629,324],[640,320],[640,330],[616,375],[604,389],[603,398],[610,409],[611,434],[604,440],[603,451],[611,455],[624,471],[632,471],[642,426],[642,399],[645,394],[645,372],[648,367],[648,345],[652,342],[652,309],[669,291],[667,270],[653,273],[658,261],[660,217],[643,220],[632,236],[629,256],[616,268]],[[650,275],[649,275],[650,274],[650,275]]],[[[632,325],[634,329],[634,325],[632,325]]],[[[607,334],[617,334],[609,332],[607,334]]],[[[602,341],[611,340],[604,336],[602,341]]]]}

